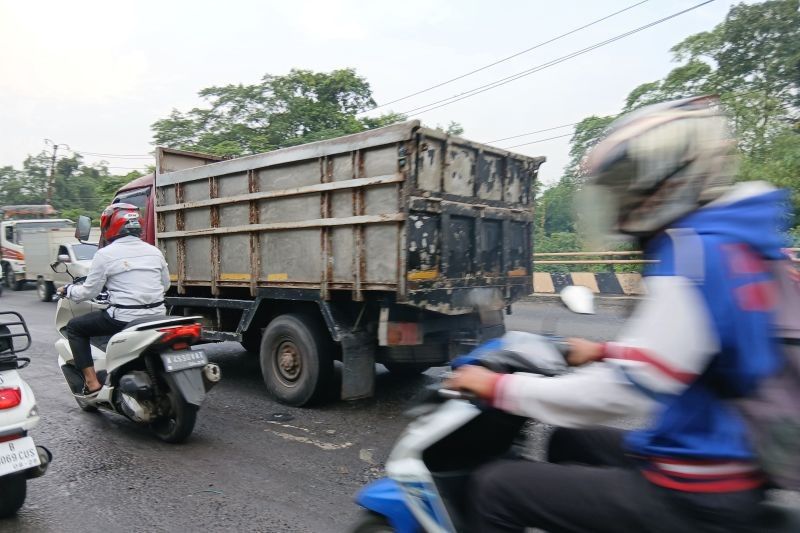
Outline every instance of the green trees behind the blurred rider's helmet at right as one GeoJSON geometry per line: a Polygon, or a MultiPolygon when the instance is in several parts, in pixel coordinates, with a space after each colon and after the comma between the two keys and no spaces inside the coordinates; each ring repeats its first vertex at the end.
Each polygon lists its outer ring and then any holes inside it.
{"type": "MultiPolygon", "coordinates": [[[[790,225],[798,243],[800,0],[735,5],[715,28],[687,37],[671,51],[678,66],[663,79],[634,88],[622,112],[698,94],[719,95],[739,139],[737,179],[766,180],[792,192],[790,225]]],[[[586,153],[614,118],[590,116],[575,127],[561,181],[537,197],[537,252],[551,246],[574,249],[576,241],[563,235],[576,229],[570,196],[585,175],[586,153]]]]}

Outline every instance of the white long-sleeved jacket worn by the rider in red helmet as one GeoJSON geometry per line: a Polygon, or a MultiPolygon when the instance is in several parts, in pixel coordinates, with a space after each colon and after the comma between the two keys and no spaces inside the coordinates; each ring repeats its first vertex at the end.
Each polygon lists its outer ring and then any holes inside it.
{"type": "Polygon", "coordinates": [[[164,301],[169,288],[169,271],[161,250],[138,237],[121,237],[99,249],[83,285],[71,285],[67,297],[75,302],[94,298],[108,290],[111,307],[107,313],[117,320],[131,320],[148,315],[163,315],[164,305],[149,309],[120,309],[119,305],[143,305],[164,301]]]}

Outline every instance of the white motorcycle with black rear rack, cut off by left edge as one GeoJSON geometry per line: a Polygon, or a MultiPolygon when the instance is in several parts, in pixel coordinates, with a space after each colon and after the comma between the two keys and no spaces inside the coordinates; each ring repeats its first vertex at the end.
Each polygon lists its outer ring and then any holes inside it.
{"type": "Polygon", "coordinates": [[[0,312],[0,518],[25,503],[29,479],[41,477],[53,456],[37,446],[28,431],[39,423],[36,398],[18,370],[30,364],[19,352],[31,345],[22,315],[0,312]],[[19,346],[19,342],[24,346],[19,346]]]}

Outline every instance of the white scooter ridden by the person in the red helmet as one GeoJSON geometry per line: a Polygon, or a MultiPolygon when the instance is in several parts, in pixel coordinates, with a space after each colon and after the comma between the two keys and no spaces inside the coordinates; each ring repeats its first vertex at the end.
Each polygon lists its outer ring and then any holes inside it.
{"type": "MultiPolygon", "coordinates": [[[[61,265],[72,276],[64,263],[51,267],[56,270],[61,265]]],[[[82,281],[73,278],[74,284],[82,281]]],[[[103,387],[87,397],[66,326],[72,318],[107,307],[103,295],[81,303],[59,296],[55,321],[61,337],[55,343],[58,366],[75,401],[84,411],[110,411],[147,426],[165,442],[185,441],[206,393],[221,377],[219,366],[209,363],[203,350],[190,348],[200,340],[200,317],[148,316],[129,322],[110,337],[93,337],[92,358],[103,387]]]]}

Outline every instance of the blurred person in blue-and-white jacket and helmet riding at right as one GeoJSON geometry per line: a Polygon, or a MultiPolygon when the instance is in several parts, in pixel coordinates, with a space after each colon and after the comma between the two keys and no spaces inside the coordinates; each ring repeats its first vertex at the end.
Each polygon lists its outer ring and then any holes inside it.
{"type": "Polygon", "coordinates": [[[450,387],[560,428],[548,462],[476,472],[476,531],[739,531],[754,521],[766,480],[725,398],[780,365],[764,260],[780,258],[788,196],[731,185],[733,146],[718,102],[696,97],[619,119],[589,154],[586,194],[611,202],[612,229],[658,261],[645,271],[648,298],[617,342],[570,339],[573,373],[455,373],[450,387]],[[593,429],[631,415],[651,420],[593,429]]]}

